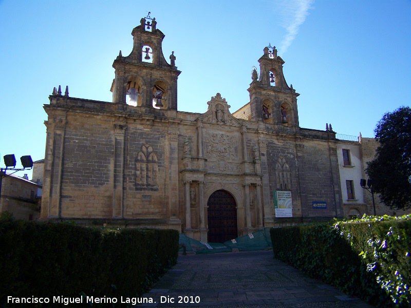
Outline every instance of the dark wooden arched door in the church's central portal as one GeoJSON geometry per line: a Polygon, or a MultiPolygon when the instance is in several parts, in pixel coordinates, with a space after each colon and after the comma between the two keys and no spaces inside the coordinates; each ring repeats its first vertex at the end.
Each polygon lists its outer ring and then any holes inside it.
{"type": "Polygon", "coordinates": [[[223,243],[238,237],[234,197],[226,190],[216,190],[210,196],[207,206],[208,241],[223,243]]]}

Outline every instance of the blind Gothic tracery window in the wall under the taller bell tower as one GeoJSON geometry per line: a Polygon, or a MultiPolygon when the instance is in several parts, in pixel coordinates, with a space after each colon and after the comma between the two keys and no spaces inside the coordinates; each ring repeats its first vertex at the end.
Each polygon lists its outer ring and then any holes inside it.
{"type": "Polygon", "coordinates": [[[141,146],[136,158],[136,189],[158,190],[158,159],[150,144],[141,146]]]}

